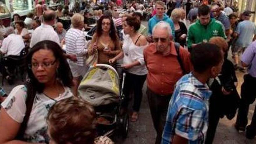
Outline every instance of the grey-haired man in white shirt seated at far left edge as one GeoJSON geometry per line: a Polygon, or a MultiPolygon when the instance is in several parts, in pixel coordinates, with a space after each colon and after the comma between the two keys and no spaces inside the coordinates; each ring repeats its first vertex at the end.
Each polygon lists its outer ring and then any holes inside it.
{"type": "MultiPolygon", "coordinates": [[[[22,36],[15,34],[14,28],[11,26],[6,28],[6,34],[8,36],[3,39],[0,53],[6,56],[19,57],[20,52],[25,47],[22,36]]],[[[9,83],[12,83],[15,66],[11,61],[0,62],[1,73],[6,76],[9,83]]]]}

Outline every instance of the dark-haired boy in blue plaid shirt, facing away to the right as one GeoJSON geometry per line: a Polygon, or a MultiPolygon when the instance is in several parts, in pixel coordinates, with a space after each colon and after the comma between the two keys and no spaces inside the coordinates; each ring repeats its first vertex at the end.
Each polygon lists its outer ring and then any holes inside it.
{"type": "Polygon", "coordinates": [[[221,49],[202,43],[191,52],[194,70],[177,83],[169,103],[162,144],[204,143],[211,91],[206,82],[221,71],[221,49]]]}

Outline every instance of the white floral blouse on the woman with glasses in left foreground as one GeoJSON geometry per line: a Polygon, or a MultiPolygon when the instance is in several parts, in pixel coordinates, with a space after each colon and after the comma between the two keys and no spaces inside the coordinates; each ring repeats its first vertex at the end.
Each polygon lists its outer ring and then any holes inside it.
{"type": "MultiPolygon", "coordinates": [[[[69,88],[64,87],[64,90],[64,93],[60,94],[55,99],[51,99],[43,93],[36,93],[27,128],[24,133],[24,139],[27,142],[49,143],[46,123],[48,111],[57,101],[73,95],[69,88]]],[[[18,123],[22,123],[26,113],[26,92],[26,86],[16,86],[1,104],[7,114],[18,123]]]]}

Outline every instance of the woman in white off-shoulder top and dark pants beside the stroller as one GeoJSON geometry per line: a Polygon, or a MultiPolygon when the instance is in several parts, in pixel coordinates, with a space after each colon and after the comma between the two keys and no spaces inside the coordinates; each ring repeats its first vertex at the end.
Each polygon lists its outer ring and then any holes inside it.
{"type": "Polygon", "coordinates": [[[109,60],[114,63],[118,59],[124,58],[122,67],[125,68],[126,77],[124,83],[125,100],[123,107],[127,108],[129,102],[129,92],[134,90],[134,106],[131,121],[138,119],[138,111],[142,99],[142,87],[147,76],[147,68],[145,66],[143,50],[147,47],[145,36],[138,33],[141,22],[136,17],[127,17],[123,24],[124,37],[122,52],[109,60]]]}

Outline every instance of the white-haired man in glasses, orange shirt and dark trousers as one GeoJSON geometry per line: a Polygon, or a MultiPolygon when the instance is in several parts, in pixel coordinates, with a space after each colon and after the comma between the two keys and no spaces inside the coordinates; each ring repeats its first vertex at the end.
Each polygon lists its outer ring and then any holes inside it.
{"type": "Polygon", "coordinates": [[[184,74],[190,72],[191,63],[186,49],[179,47],[179,52],[175,49],[168,23],[157,23],[152,36],[154,42],[144,50],[144,59],[148,70],[147,97],[157,131],[155,143],[159,144],[174,85],[184,74]]]}

